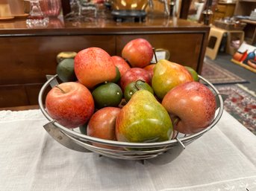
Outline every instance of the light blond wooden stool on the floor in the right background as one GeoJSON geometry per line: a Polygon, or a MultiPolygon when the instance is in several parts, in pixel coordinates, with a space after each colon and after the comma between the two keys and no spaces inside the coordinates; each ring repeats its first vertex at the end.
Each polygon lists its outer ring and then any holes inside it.
{"type": "Polygon", "coordinates": [[[227,44],[226,44],[226,53],[233,55],[236,51],[231,47],[231,41],[234,39],[234,36],[240,39],[240,45],[244,39],[243,30],[224,30],[218,27],[210,27],[210,33],[208,38],[208,45],[206,48],[205,56],[208,56],[210,59],[216,59],[216,56],[219,51],[219,45],[222,42],[224,34],[227,34],[227,44]]]}

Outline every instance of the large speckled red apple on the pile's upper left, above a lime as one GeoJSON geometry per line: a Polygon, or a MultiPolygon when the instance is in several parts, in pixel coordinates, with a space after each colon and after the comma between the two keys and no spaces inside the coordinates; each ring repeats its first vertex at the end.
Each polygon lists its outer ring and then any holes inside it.
{"type": "Polygon", "coordinates": [[[116,77],[116,66],[111,56],[102,48],[86,48],[75,56],[75,75],[87,88],[113,80],[116,77]]]}

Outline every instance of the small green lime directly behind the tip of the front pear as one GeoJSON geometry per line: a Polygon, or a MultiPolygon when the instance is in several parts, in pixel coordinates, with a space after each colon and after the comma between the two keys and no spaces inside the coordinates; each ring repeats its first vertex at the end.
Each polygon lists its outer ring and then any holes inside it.
{"type": "Polygon", "coordinates": [[[125,100],[128,102],[131,99],[131,96],[140,89],[145,89],[154,94],[152,87],[148,83],[143,80],[137,80],[136,82],[131,82],[125,86],[125,100]]]}

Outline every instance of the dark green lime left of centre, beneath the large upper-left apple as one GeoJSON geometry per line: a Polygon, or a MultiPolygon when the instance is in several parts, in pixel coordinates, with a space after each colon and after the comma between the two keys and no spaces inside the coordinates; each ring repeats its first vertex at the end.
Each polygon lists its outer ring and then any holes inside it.
{"type": "Polygon", "coordinates": [[[99,85],[93,90],[93,100],[97,109],[107,106],[116,107],[122,100],[122,89],[113,82],[99,85]]]}

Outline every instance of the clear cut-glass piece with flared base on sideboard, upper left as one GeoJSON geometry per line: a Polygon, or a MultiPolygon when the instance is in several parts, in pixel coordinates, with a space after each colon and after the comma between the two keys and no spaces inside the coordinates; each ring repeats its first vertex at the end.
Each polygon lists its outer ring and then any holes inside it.
{"type": "Polygon", "coordinates": [[[30,1],[30,12],[26,20],[28,27],[47,27],[49,17],[45,16],[40,7],[41,0],[25,0],[30,1]]]}

